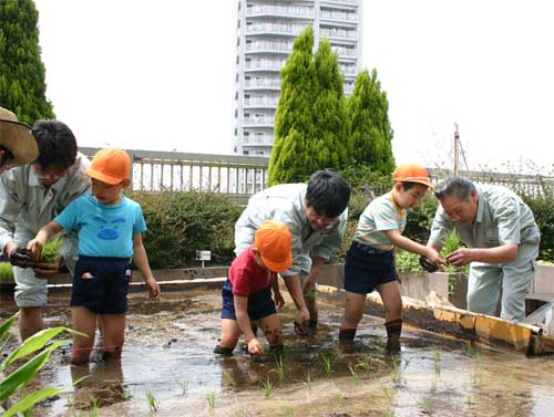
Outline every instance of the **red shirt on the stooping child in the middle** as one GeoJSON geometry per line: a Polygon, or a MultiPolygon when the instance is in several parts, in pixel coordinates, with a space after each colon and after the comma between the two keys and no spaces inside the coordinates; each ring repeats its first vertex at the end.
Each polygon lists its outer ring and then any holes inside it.
{"type": "Polygon", "coordinates": [[[277,273],[258,265],[252,247],[235,258],[229,268],[229,281],[233,294],[248,296],[253,292],[265,290],[277,279],[277,273]]]}

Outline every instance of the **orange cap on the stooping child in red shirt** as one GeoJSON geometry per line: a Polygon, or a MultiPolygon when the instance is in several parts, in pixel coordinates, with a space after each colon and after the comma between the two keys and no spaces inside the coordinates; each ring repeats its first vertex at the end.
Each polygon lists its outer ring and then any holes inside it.
{"type": "Polygon", "coordinates": [[[293,264],[293,237],[285,223],[265,220],[254,236],[254,246],[264,264],[274,272],[283,272],[293,264]]]}

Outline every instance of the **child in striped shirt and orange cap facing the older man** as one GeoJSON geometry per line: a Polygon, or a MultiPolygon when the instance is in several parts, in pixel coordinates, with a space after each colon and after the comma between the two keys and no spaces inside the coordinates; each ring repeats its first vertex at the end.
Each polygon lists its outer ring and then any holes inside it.
{"type": "Polygon", "coordinates": [[[392,174],[390,192],[376,198],[363,210],[345,263],[347,301],[340,323],[339,340],[352,341],[363,314],[366,295],[377,290],[384,305],[387,347],[400,350],[402,299],[397,281],[396,248],[424,256],[434,264],[445,263],[437,252],[402,236],[408,209],[420,202],[432,188],[427,169],[406,164],[392,174]]]}

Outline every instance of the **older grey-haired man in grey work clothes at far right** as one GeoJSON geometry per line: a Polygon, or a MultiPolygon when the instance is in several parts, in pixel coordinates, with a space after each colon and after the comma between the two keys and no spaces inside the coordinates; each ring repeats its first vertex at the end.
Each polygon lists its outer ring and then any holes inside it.
{"type": "Polygon", "coordinates": [[[434,194],[440,207],[428,246],[440,251],[455,229],[469,247],[448,256],[453,265],[470,264],[468,310],[494,315],[502,286],[501,317],[523,320],[541,241],[531,209],[507,188],[460,177],[444,179],[434,194]]]}

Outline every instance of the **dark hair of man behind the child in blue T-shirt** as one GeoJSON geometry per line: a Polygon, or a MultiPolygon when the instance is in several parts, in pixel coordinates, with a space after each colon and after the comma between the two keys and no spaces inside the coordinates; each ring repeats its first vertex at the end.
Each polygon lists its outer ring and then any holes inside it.
{"type": "Polygon", "coordinates": [[[38,121],[32,133],[39,145],[35,163],[42,168],[69,168],[75,163],[76,140],[68,125],[59,121],[38,121]]]}

